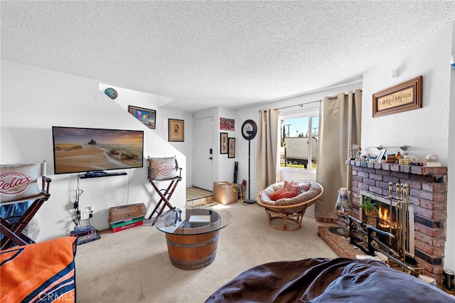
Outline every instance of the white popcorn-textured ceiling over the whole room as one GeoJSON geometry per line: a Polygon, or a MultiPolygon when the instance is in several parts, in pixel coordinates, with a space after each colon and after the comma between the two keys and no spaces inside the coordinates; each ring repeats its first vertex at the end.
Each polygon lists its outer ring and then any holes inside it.
{"type": "Polygon", "coordinates": [[[235,109],[360,80],[454,20],[455,1],[1,1],[1,58],[235,109]]]}

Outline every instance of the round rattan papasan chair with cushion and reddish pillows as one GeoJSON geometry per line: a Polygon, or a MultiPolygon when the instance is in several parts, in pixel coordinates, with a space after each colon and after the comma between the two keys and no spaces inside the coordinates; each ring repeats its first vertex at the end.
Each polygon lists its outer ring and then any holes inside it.
{"type": "Polygon", "coordinates": [[[282,181],[270,185],[257,195],[257,204],[265,208],[269,225],[279,230],[299,230],[306,208],[323,194],[321,184],[309,181],[282,181]],[[282,225],[274,224],[282,219],[282,225]],[[288,220],[292,223],[288,226],[288,220]]]}

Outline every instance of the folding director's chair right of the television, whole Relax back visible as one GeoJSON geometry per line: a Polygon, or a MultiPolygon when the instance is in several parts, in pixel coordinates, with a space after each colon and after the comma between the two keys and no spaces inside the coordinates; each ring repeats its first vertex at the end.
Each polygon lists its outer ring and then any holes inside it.
{"type": "Polygon", "coordinates": [[[156,214],[156,218],[151,223],[151,225],[155,225],[156,220],[158,219],[159,215],[163,213],[164,208],[166,206],[169,209],[174,209],[169,203],[173,191],[176,189],[178,182],[182,179],[182,169],[178,167],[177,159],[175,156],[169,158],[151,158],[148,157],[149,160],[149,182],[151,186],[154,187],[156,193],[159,194],[160,200],[156,204],[154,210],[151,212],[149,216],[149,220],[156,214]],[[168,184],[167,188],[159,189],[157,183],[162,181],[171,181],[168,184]]]}

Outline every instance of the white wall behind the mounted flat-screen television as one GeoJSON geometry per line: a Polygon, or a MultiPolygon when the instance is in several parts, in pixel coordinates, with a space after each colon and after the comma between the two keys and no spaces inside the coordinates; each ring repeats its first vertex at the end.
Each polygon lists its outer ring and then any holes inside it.
{"type": "MultiPolygon", "coordinates": [[[[180,166],[186,168],[185,155],[107,97],[96,80],[2,60],[0,123],[1,164],[48,161],[48,176],[52,179],[50,199],[36,215],[41,228],[38,241],[68,235],[74,227],[77,174],[53,175],[53,125],[144,130],[144,155],[157,151],[175,154],[180,166]]],[[[80,180],[83,190],[80,208],[94,206],[90,223],[95,228],[109,227],[109,207],[127,203],[154,207],[159,196],[146,179],[147,166],[144,161],[143,168],[129,169],[127,176],[80,180]]],[[[184,205],[185,188],[183,178],[171,199],[174,206],[184,205]]]]}

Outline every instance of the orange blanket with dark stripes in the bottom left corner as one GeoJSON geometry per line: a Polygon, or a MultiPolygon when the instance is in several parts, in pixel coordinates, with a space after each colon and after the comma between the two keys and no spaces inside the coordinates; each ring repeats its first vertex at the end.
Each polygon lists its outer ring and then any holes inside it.
{"type": "Polygon", "coordinates": [[[75,237],[0,251],[0,302],[75,302],[75,237]]]}

